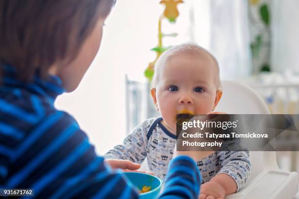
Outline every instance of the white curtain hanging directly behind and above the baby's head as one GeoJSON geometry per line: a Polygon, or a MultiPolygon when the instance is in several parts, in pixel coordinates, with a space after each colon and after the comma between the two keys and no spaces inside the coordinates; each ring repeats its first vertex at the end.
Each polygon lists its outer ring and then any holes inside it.
{"type": "Polygon", "coordinates": [[[221,79],[248,77],[251,70],[247,0],[194,0],[193,40],[218,60],[221,79]]]}

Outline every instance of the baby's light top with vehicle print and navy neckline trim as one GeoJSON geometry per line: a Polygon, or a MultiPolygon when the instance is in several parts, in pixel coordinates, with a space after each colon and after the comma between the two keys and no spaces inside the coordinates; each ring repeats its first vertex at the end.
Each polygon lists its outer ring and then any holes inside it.
{"type": "MultiPolygon", "coordinates": [[[[149,171],[164,179],[173,156],[176,136],[171,134],[159,118],[145,120],[128,135],[123,144],[116,145],[105,154],[106,159],[128,159],[142,163],[148,158],[149,171]]],[[[235,179],[239,191],[250,177],[248,151],[216,151],[209,157],[198,160],[202,183],[216,174],[225,173],[235,179]]]]}

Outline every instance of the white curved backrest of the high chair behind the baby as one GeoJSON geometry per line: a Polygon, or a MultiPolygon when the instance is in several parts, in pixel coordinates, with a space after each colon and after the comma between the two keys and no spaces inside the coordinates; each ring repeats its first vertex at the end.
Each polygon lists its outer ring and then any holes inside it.
{"type": "MultiPolygon", "coordinates": [[[[245,84],[223,80],[223,95],[215,111],[228,114],[270,114],[266,103],[257,93],[245,84]]],[[[251,151],[252,163],[250,180],[254,179],[264,169],[278,168],[276,152],[251,151]]]]}

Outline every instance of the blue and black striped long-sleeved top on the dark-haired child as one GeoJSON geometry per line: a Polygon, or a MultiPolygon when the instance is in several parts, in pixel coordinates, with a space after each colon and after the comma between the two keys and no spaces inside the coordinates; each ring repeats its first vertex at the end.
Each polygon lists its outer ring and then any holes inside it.
{"type": "MultiPolygon", "coordinates": [[[[69,114],[56,110],[64,92],[56,76],[31,83],[2,66],[0,188],[31,188],[38,198],[138,198],[122,172],[111,170],[69,114]]],[[[200,174],[185,156],[173,159],[163,199],[197,199],[200,174]]]]}

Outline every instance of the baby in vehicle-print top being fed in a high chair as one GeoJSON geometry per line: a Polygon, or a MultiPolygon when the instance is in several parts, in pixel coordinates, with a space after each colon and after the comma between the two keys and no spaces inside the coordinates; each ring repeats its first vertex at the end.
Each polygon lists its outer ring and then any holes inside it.
{"type": "MultiPolygon", "coordinates": [[[[151,96],[161,117],[147,119],[105,155],[106,159],[129,159],[142,163],[164,179],[176,141],[178,113],[208,114],[222,95],[215,58],[195,44],[171,47],[156,63],[151,96]]],[[[202,175],[200,199],[223,199],[239,191],[250,176],[249,153],[218,151],[197,160],[202,175]]]]}

